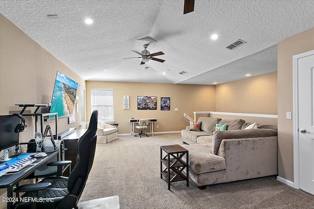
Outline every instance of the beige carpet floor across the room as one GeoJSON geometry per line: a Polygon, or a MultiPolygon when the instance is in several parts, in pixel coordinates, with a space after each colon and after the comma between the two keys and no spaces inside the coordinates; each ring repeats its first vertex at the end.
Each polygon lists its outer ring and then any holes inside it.
{"type": "Polygon", "coordinates": [[[95,160],[80,198],[118,195],[121,209],[314,209],[314,196],[282,184],[275,176],[207,186],[190,179],[160,179],[160,145],[182,144],[180,134],[119,137],[98,143],[95,160]]]}

